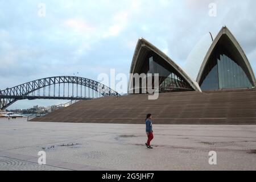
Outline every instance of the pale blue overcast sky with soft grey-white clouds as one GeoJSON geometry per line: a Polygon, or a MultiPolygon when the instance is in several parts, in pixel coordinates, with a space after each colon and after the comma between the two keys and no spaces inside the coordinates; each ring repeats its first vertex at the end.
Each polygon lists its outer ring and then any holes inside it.
{"type": "MultiPolygon", "coordinates": [[[[111,68],[128,74],[140,37],[183,67],[197,42],[224,25],[256,72],[255,9],[255,0],[0,0],[0,89],[77,72],[97,80],[111,68]],[[217,16],[209,16],[210,3],[217,16]]],[[[62,102],[18,101],[9,109],[62,102]]]]}

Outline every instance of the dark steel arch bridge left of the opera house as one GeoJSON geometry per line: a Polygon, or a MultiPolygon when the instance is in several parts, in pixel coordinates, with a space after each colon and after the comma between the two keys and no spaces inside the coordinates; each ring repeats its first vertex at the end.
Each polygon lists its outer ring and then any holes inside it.
{"type": "Polygon", "coordinates": [[[55,76],[0,90],[0,109],[6,109],[14,102],[24,99],[90,100],[106,96],[119,94],[108,86],[88,78],[55,76]]]}

